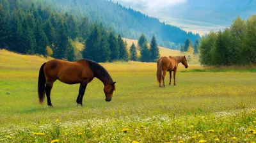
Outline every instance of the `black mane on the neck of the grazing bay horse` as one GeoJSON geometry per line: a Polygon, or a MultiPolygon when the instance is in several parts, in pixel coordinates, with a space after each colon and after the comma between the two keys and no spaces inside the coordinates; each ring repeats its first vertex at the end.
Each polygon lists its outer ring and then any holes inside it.
{"type": "Polygon", "coordinates": [[[104,84],[112,84],[113,80],[110,77],[108,71],[101,66],[100,64],[96,63],[95,61],[91,61],[89,59],[84,59],[88,62],[90,65],[90,68],[92,69],[95,77],[97,77],[99,80],[101,80],[104,84]]]}

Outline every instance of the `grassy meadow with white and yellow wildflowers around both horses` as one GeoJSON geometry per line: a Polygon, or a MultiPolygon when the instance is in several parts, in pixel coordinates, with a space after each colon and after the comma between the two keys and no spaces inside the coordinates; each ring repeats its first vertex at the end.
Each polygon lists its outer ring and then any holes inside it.
{"type": "Polygon", "coordinates": [[[179,64],[177,86],[172,79],[161,88],[156,63],[100,63],[116,82],[111,102],[94,79],[77,107],[79,85],[57,80],[51,108],[38,103],[36,91],[39,68],[50,59],[0,50],[0,142],[256,141],[255,67],[212,71],[191,56],[188,69],[179,64]]]}

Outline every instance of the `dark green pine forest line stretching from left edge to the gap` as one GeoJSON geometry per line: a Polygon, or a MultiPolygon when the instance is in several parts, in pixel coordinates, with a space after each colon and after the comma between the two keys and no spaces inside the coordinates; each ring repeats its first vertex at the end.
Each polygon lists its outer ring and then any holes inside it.
{"type": "Polygon", "coordinates": [[[153,45],[149,49],[144,45],[148,57],[141,54],[140,58],[134,44],[129,55],[127,43],[120,34],[116,36],[112,29],[107,30],[102,24],[93,24],[86,17],[76,19],[72,13],[58,13],[49,6],[28,5],[19,0],[0,0],[0,48],[68,61],[79,58],[97,62],[155,61],[159,55],[154,35],[153,45]],[[76,49],[75,40],[84,43],[81,52],[76,49]],[[150,49],[152,52],[148,52],[150,49]]]}

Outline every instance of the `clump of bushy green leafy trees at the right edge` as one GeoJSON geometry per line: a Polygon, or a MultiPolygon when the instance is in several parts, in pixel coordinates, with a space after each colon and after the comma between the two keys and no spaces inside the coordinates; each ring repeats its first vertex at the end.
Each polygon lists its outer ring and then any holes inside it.
{"type": "Polygon", "coordinates": [[[237,17],[223,31],[211,31],[200,40],[200,63],[214,66],[256,63],[256,15],[237,17]]]}

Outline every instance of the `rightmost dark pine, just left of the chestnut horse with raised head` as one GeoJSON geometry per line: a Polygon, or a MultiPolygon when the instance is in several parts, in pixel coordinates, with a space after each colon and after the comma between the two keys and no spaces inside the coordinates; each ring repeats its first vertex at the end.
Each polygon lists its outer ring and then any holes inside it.
{"type": "Polygon", "coordinates": [[[150,42],[150,61],[156,62],[159,59],[159,48],[157,46],[155,34],[153,34],[151,42],[150,42]]]}

